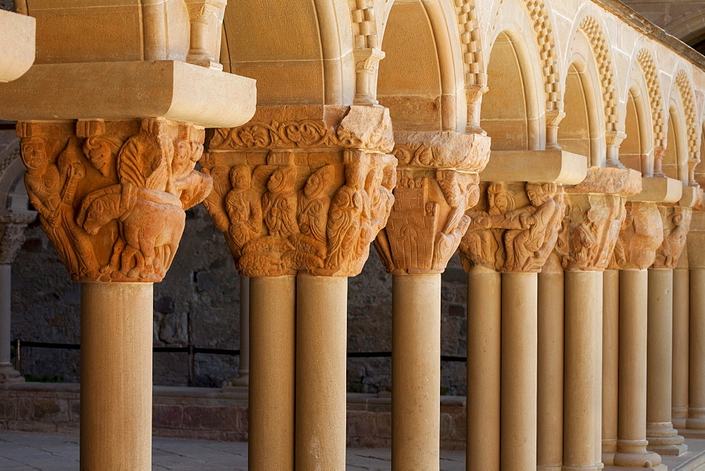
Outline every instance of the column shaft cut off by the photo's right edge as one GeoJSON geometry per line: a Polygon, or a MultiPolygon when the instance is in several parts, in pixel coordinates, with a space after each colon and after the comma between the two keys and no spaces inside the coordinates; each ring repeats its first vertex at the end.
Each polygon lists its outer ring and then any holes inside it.
{"type": "Polygon", "coordinates": [[[688,429],[705,429],[705,269],[690,269],[688,429]]]}

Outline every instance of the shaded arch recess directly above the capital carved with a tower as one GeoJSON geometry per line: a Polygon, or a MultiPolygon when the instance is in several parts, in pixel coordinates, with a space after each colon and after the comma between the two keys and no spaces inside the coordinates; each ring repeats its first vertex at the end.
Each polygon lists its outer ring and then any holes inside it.
{"type": "Polygon", "coordinates": [[[453,6],[440,0],[391,6],[376,88],[395,130],[465,128],[465,64],[457,21],[453,6]]]}

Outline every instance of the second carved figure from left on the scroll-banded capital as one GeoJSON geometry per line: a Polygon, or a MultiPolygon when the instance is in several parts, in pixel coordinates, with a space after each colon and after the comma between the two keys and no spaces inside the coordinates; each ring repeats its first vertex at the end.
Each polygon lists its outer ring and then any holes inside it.
{"type": "Polygon", "coordinates": [[[288,239],[299,232],[296,221],[298,197],[294,189],[296,168],[279,167],[271,174],[267,182],[267,192],[262,197],[264,223],[269,229],[269,236],[288,239]]]}

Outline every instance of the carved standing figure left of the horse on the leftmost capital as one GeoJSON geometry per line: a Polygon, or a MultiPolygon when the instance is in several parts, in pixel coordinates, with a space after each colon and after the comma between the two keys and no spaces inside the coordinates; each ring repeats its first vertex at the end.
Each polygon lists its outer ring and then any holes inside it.
{"type": "Polygon", "coordinates": [[[21,141],[22,159],[27,166],[25,185],[30,202],[37,209],[47,235],[71,273],[95,274],[98,263],[87,235],[74,219],[73,200],[85,167],[78,161],[75,142],[68,140],[57,164],[49,161],[41,137],[21,141]]]}

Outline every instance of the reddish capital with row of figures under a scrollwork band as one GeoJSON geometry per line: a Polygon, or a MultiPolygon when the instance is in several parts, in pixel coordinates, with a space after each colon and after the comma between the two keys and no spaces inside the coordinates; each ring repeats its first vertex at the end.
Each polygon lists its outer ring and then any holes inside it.
{"type": "Polygon", "coordinates": [[[355,276],[394,202],[391,120],[379,106],[261,107],[216,130],[205,201],[245,276],[355,276]]]}

